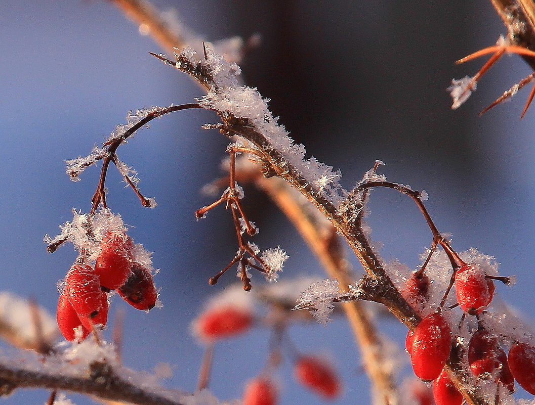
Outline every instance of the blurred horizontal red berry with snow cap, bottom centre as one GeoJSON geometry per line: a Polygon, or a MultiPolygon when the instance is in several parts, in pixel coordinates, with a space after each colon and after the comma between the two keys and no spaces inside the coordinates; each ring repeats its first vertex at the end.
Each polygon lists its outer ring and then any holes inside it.
{"type": "Polygon", "coordinates": [[[253,316],[236,307],[211,308],[195,321],[195,330],[204,340],[216,340],[239,334],[249,328],[253,316]]]}

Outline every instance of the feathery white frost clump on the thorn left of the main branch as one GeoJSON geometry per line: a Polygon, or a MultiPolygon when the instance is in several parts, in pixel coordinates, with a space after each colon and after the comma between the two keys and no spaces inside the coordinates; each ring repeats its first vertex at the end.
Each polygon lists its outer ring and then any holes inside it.
{"type": "Polygon", "coordinates": [[[336,280],[327,278],[315,282],[307,290],[303,291],[297,307],[310,308],[316,321],[326,325],[329,315],[334,309],[334,301],[340,297],[340,290],[336,280]]]}

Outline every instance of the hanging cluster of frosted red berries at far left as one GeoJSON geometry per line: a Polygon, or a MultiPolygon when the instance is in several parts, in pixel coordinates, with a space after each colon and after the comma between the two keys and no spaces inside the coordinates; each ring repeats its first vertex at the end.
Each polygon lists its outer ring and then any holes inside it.
{"type": "Polygon", "coordinates": [[[67,272],[57,308],[63,337],[83,340],[93,326],[104,326],[112,290],[134,308],[149,310],[156,305],[151,270],[134,260],[132,239],[123,230],[105,233],[94,267],[80,260],[67,272]]]}

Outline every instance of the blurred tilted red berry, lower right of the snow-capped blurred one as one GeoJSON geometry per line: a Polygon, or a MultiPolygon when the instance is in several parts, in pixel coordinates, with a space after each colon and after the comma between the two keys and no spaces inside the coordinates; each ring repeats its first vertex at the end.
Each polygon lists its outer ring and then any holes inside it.
{"type": "Polygon", "coordinates": [[[302,385],[324,399],[334,399],[340,394],[338,376],[330,365],[316,357],[300,357],[295,364],[294,376],[302,385]]]}

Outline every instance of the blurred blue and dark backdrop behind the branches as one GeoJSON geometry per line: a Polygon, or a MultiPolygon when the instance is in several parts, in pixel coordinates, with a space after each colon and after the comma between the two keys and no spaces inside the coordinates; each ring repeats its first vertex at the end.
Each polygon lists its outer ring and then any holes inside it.
{"type": "MultiPolygon", "coordinates": [[[[390,180],[425,189],[427,207],[438,228],[452,233],[454,248],[477,247],[497,258],[502,274],[517,275],[513,289],[497,290],[529,317],[535,108],[519,120],[524,90],[478,116],[529,68],[518,57],[503,58],[460,110],[450,110],[450,80],[472,75],[483,63],[454,61],[493,44],[505,28],[484,0],[409,3],[155,1],[161,10],[176,9],[209,40],[261,34],[262,45],[241,64],[244,79],[271,98],[274,115],[296,141],[339,167],[346,187],[381,159],[390,180]]],[[[81,182],[71,183],[63,160],[89,153],[129,110],[188,103],[202,94],[189,77],[150,57],[149,51],[160,51],[157,45],[105,1],[0,2],[0,38],[0,289],[34,297],[53,313],[56,282],[75,253],[63,246],[47,254],[43,235],[55,235],[58,224],[72,218],[72,208],[88,211],[98,177],[90,168],[81,182]]],[[[221,175],[227,144],[217,131],[200,129],[206,122],[217,117],[174,113],[121,147],[120,157],[138,170],[140,188],[156,198],[156,209],[140,207],[117,175],[108,181],[112,211],[131,225],[136,242],[155,252],[155,266],[162,269],[156,278],[162,309],[145,314],[118,299],[112,303],[111,322],[118,309],[125,310],[124,363],[150,371],[168,362],[173,377],[164,384],[185,391],[195,388],[202,355],[189,322],[210,294],[234,282],[232,276],[216,287],[206,282],[235,251],[228,214],[215,210],[201,222],[193,215],[211,202],[200,189],[221,175]]],[[[280,244],[290,255],[284,277],[321,276],[284,217],[261,194],[247,191],[246,209],[261,229],[257,243],[280,244]]],[[[381,254],[417,266],[430,234],[413,204],[376,191],[371,209],[372,236],[384,243],[381,254]]],[[[254,282],[263,283],[260,277],[254,282]]],[[[382,320],[380,327],[398,343],[406,333],[393,320],[382,320]]],[[[335,403],[369,403],[345,322],[295,326],[291,336],[303,351],[327,352],[337,362],[345,391],[335,403]]],[[[211,382],[218,398],[239,398],[244,381],[262,368],[267,342],[258,330],[218,345],[211,382]]],[[[406,356],[400,359],[401,380],[410,371],[406,356]]],[[[290,373],[286,361],[279,373],[281,404],[321,403],[294,384],[290,373]]],[[[2,401],[44,403],[47,395],[21,390],[2,401]]]]}

